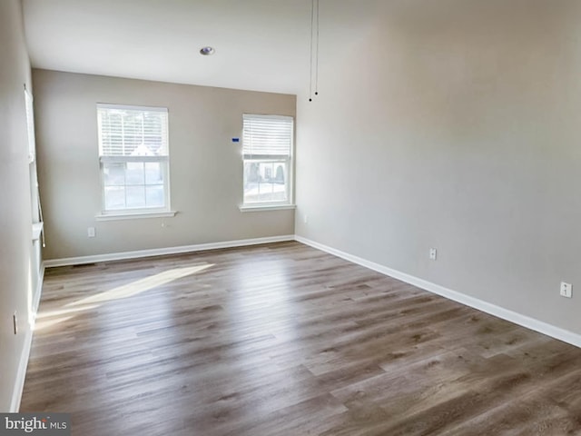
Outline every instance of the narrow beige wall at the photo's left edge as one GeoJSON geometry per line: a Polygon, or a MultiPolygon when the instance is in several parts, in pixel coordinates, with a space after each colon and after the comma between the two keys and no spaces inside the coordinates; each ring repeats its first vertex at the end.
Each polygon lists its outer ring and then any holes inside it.
{"type": "Polygon", "coordinates": [[[29,272],[34,250],[24,94],[24,85],[31,85],[30,64],[18,0],[0,2],[0,59],[0,411],[9,411],[30,340],[36,280],[29,272]]]}

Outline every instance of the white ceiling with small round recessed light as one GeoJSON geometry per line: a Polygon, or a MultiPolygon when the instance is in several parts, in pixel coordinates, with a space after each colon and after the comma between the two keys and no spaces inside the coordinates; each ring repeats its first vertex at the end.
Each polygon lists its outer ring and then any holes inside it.
{"type": "MultiPolygon", "coordinates": [[[[286,94],[300,94],[309,84],[310,0],[24,0],[23,5],[36,68],[286,94]],[[216,53],[202,56],[204,45],[216,53]]],[[[339,30],[340,22],[335,25],[339,30]]]]}

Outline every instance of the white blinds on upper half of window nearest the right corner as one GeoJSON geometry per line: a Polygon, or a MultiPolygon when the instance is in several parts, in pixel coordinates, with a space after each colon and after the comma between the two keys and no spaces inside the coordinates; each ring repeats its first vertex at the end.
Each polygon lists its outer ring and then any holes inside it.
{"type": "Polygon", "coordinates": [[[242,154],[245,159],[291,155],[291,116],[243,115],[242,154]]]}

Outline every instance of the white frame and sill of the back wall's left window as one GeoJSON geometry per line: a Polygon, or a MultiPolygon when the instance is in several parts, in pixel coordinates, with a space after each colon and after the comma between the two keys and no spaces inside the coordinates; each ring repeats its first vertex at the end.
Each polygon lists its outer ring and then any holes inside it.
{"type": "MultiPolygon", "coordinates": [[[[175,212],[171,208],[171,189],[170,189],[170,144],[169,144],[169,110],[167,107],[161,106],[137,106],[128,104],[96,104],[97,113],[97,144],[99,151],[99,177],[101,184],[101,213],[97,214],[96,218],[99,221],[107,221],[114,219],[129,219],[129,218],[149,218],[149,217],[162,217],[162,216],[173,216],[175,212]],[[165,144],[166,154],[162,155],[106,155],[103,154],[103,144],[102,135],[103,128],[101,125],[101,117],[99,114],[100,110],[121,110],[121,111],[135,111],[135,112],[159,112],[165,114],[164,123],[162,127],[162,132],[164,132],[164,138],[162,142],[165,144]],[[125,205],[120,209],[107,209],[106,207],[106,183],[105,183],[105,172],[104,166],[106,163],[123,163],[124,171],[126,171],[127,163],[159,163],[160,173],[162,175],[162,186],[163,186],[163,206],[162,207],[127,207],[126,202],[126,189],[132,184],[127,184],[126,173],[123,174],[124,183],[123,186],[125,192],[125,205]]],[[[145,179],[145,169],[143,169],[143,178],[145,179]]],[[[153,183],[150,183],[153,184],[153,183]]],[[[134,185],[141,186],[141,185],[134,185]]],[[[145,180],[143,180],[143,189],[148,186],[145,180]]]]}

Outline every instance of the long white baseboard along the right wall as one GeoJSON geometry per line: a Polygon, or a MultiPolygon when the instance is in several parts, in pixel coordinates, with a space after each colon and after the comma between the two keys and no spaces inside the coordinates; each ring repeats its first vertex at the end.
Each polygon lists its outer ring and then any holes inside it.
{"type": "Polygon", "coordinates": [[[552,338],[558,339],[559,341],[570,343],[572,345],[575,345],[576,347],[581,347],[581,335],[576,334],[574,332],[569,332],[565,329],[561,329],[552,324],[548,324],[547,322],[538,321],[534,318],[528,317],[527,315],[510,311],[503,307],[491,304],[489,302],[485,302],[483,300],[479,300],[478,298],[471,297],[464,293],[452,291],[451,289],[445,288],[436,283],[428,282],[427,280],[419,279],[418,277],[414,277],[413,275],[409,275],[405,272],[392,270],[387,266],[380,265],[379,263],[370,262],[366,259],[354,256],[350,253],[341,252],[340,250],[334,249],[322,243],[311,241],[310,239],[303,238],[302,236],[295,236],[295,240],[300,243],[310,245],[311,247],[317,248],[323,252],[334,254],[337,257],[345,259],[346,261],[350,261],[352,263],[357,263],[361,266],[365,266],[370,270],[380,272],[385,275],[389,275],[390,277],[398,279],[401,282],[413,284],[414,286],[417,286],[428,292],[436,293],[438,295],[441,295],[442,297],[446,297],[449,300],[453,300],[455,302],[460,302],[474,309],[478,309],[478,311],[487,312],[503,320],[514,322],[518,325],[526,327],[527,329],[547,334],[547,336],[551,336],[552,338]]]}

